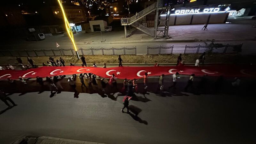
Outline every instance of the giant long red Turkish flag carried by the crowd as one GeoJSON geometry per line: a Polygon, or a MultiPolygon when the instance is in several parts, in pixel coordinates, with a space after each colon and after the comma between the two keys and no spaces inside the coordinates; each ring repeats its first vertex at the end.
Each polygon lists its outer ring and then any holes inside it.
{"type": "Polygon", "coordinates": [[[0,70],[0,80],[18,79],[19,76],[23,78],[33,78],[36,76],[59,76],[59,75],[72,75],[79,73],[92,73],[97,76],[110,78],[115,74],[116,78],[139,79],[143,78],[145,73],[148,76],[171,75],[179,72],[181,75],[203,76],[256,76],[255,66],[237,66],[237,65],[212,65],[212,66],[173,66],[173,67],[113,67],[113,68],[94,68],[94,67],[40,67],[31,68],[28,70],[0,70]]]}

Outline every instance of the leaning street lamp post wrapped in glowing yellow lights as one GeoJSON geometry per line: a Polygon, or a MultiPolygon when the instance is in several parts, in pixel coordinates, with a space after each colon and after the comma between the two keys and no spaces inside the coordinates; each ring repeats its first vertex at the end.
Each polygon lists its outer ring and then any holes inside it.
{"type": "Polygon", "coordinates": [[[76,49],[76,44],[75,44],[73,32],[72,32],[72,30],[71,30],[71,28],[70,28],[68,19],[67,19],[67,17],[66,17],[64,8],[63,8],[62,3],[61,3],[61,0],[57,0],[57,1],[58,1],[58,3],[59,3],[60,9],[61,9],[61,11],[62,11],[62,13],[63,13],[63,19],[64,19],[64,22],[65,22],[66,30],[67,30],[67,32],[68,32],[68,36],[69,36],[69,38],[70,38],[70,40],[71,40],[71,42],[72,42],[72,44],[73,44],[73,46],[74,46],[74,49],[75,49],[75,51],[76,51],[77,60],[79,60],[80,58],[79,58],[79,55],[78,55],[78,52],[77,52],[77,49],[76,49]]]}

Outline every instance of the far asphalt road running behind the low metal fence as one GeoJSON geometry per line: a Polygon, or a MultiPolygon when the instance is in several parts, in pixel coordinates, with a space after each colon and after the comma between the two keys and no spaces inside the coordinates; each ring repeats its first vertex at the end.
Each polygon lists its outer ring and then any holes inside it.
{"type": "MultiPolygon", "coordinates": [[[[255,54],[256,53],[256,49],[254,47],[254,45],[256,45],[256,41],[254,40],[241,40],[241,41],[218,41],[216,43],[221,43],[221,44],[241,44],[243,43],[243,47],[242,47],[242,54],[255,54]]],[[[69,49],[69,48],[73,48],[70,40],[66,40],[63,41],[62,43],[59,43],[61,46],[60,48],[63,49],[69,49]]],[[[148,46],[159,46],[159,45],[163,45],[163,46],[167,46],[167,45],[173,45],[173,51],[172,53],[184,53],[184,49],[186,44],[204,44],[204,42],[152,42],[152,43],[119,43],[119,44],[76,44],[76,46],[78,48],[82,47],[82,48],[90,48],[90,47],[95,47],[95,48],[99,48],[99,47],[120,47],[120,46],[131,46],[134,47],[136,46],[136,52],[137,55],[138,54],[147,54],[147,47],[148,46]]],[[[48,42],[48,41],[39,41],[39,42],[24,42],[24,43],[13,43],[13,44],[7,44],[7,45],[1,45],[0,44],[0,49],[1,50],[6,50],[6,49],[10,49],[10,50],[33,50],[33,49],[37,49],[37,50],[41,50],[41,49],[45,49],[45,50],[49,50],[49,49],[57,49],[55,47],[56,42],[52,41],[52,42],[48,42]]]]}

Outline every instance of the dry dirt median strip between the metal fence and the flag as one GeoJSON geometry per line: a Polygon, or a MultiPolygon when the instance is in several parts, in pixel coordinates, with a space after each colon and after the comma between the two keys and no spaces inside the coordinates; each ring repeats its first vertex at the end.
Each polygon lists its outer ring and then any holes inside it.
{"type": "MultiPolygon", "coordinates": [[[[195,63],[200,54],[185,54],[182,55],[182,60],[185,63],[195,63]]],[[[149,63],[176,63],[178,55],[122,55],[124,64],[149,64],[149,63]]],[[[239,55],[239,54],[206,54],[205,63],[256,63],[253,55],[239,55]]],[[[35,60],[35,64],[42,64],[49,61],[48,56],[30,57],[35,60]]],[[[59,56],[54,56],[54,60],[60,59],[59,56]]],[[[68,65],[70,62],[73,64],[81,64],[81,60],[77,60],[76,56],[62,56],[68,65]]],[[[24,64],[27,64],[27,57],[21,57],[24,64]]],[[[118,55],[94,55],[85,56],[87,64],[117,64],[118,55]]],[[[16,57],[1,57],[0,64],[18,64],[16,57]]]]}

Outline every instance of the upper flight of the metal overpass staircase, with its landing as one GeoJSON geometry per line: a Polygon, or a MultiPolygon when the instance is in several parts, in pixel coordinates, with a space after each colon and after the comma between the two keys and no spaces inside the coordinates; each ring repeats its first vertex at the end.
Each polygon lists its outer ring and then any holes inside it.
{"type": "Polygon", "coordinates": [[[142,11],[138,12],[137,14],[135,14],[134,16],[132,16],[131,18],[121,19],[121,25],[122,26],[131,25],[132,23],[134,23],[137,20],[145,17],[147,14],[149,14],[150,12],[153,12],[155,10],[156,10],[156,3],[151,4],[147,8],[145,8],[144,10],[142,10],[142,11]]]}

